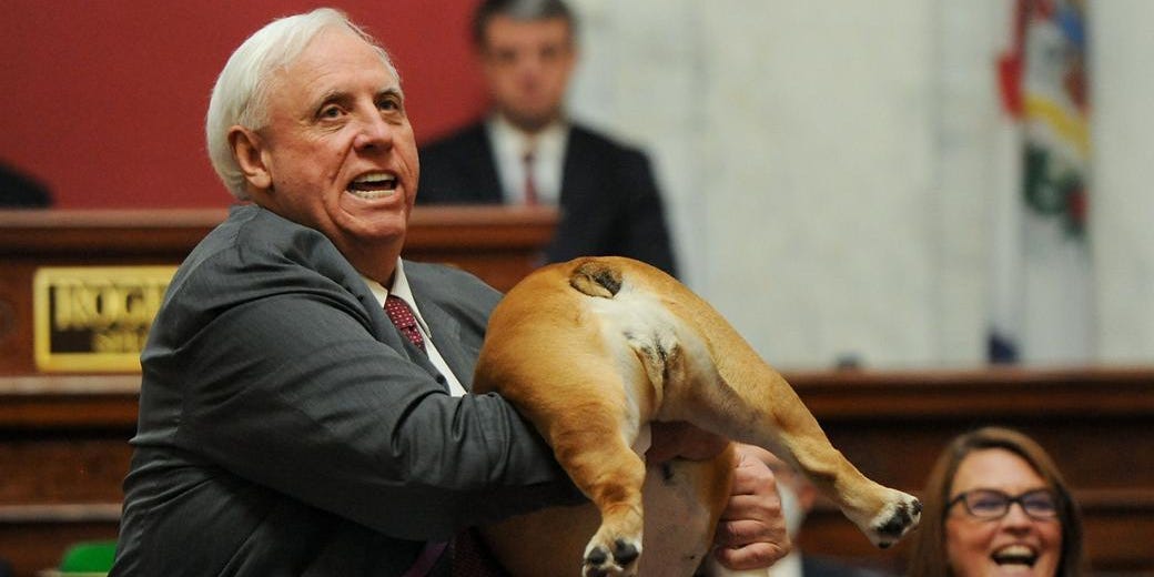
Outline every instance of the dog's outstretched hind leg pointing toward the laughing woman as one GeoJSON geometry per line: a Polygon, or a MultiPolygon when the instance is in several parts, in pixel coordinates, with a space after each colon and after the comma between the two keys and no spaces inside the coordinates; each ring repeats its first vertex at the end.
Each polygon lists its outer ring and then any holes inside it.
{"type": "MultiPolygon", "coordinates": [[[[619,293],[659,295],[679,321],[679,372],[665,385],[658,418],[688,420],[792,462],[872,541],[889,547],[917,524],[921,503],[865,478],[825,436],[793,388],[707,302],[640,263],[602,258],[595,278],[617,278],[619,293]],[[636,285],[636,290],[634,287],[636,285]]],[[[587,269],[593,269],[589,265],[587,269]]]]}

